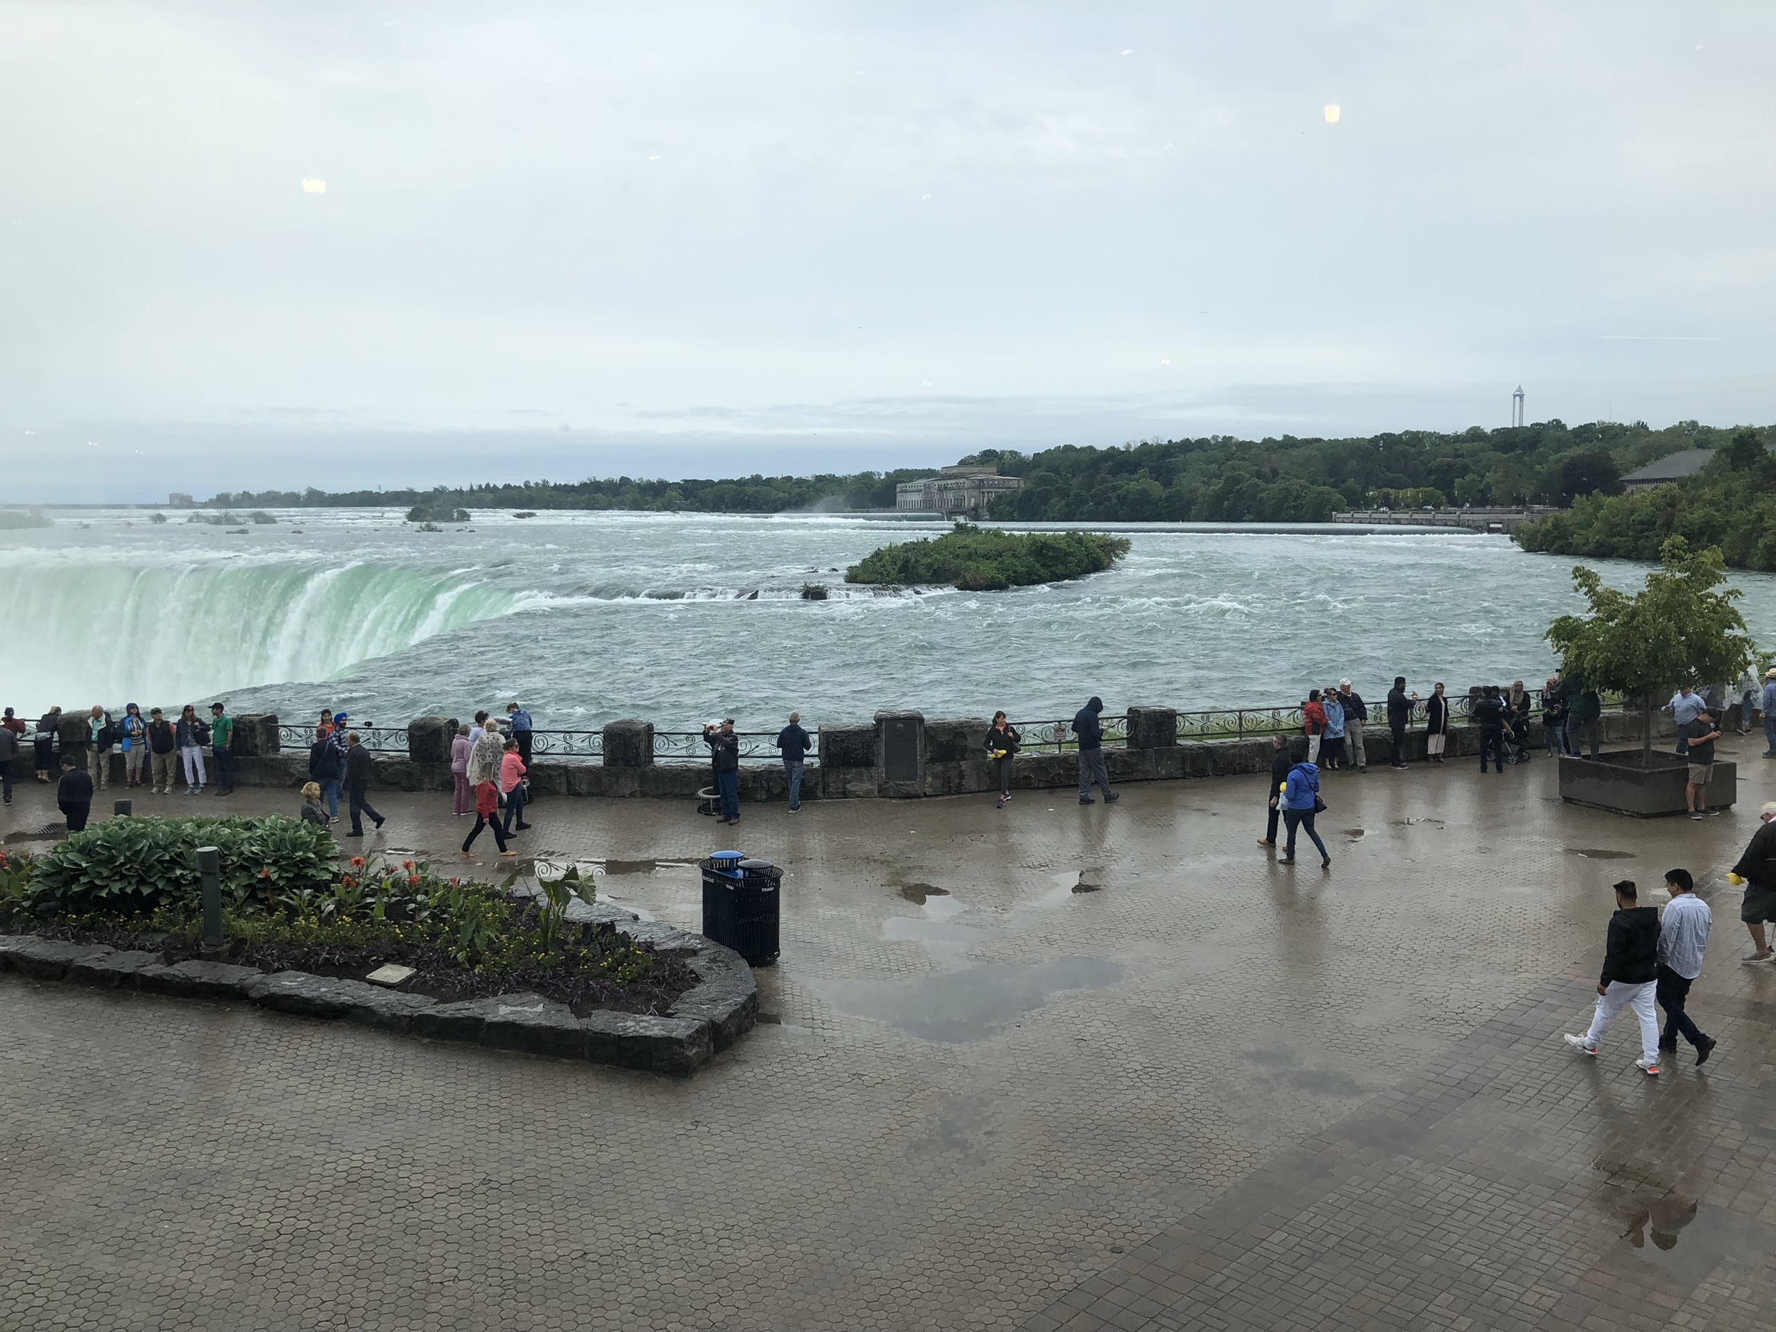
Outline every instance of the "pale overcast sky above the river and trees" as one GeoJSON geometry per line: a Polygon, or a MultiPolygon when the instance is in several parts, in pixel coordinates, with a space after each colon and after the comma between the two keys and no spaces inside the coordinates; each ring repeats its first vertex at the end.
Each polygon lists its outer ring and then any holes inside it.
{"type": "Polygon", "coordinates": [[[1767,4],[14,0],[0,497],[1769,423],[1772,67],[1767,4]]]}

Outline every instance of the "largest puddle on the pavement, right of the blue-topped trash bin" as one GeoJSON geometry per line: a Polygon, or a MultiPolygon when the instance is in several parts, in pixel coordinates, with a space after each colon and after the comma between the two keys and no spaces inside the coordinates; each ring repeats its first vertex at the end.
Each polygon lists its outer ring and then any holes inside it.
{"type": "Polygon", "coordinates": [[[870,1018],[940,1044],[982,1041],[1041,1009],[1062,989],[1103,989],[1122,968],[1101,957],[1051,963],[986,963],[916,980],[819,980],[797,977],[840,1012],[870,1018]]]}

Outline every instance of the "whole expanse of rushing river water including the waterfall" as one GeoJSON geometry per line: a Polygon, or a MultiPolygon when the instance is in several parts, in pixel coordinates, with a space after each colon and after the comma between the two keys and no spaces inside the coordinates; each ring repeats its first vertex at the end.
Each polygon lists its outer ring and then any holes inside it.
{"type": "MultiPolygon", "coordinates": [[[[1181,710],[1295,703],[1343,677],[1380,696],[1536,686],[1579,607],[1570,561],[1499,536],[1128,529],[1117,568],[1005,593],[860,588],[844,568],[932,526],[826,515],[277,510],[226,529],[57,510],[0,531],[0,703],[126,702],[403,725],[522,700],[538,726],[733,716],[774,730],[879,709],[1019,719],[1101,694],[1181,710]],[[805,584],[828,590],[803,600],[805,584]]],[[[1637,586],[1645,567],[1593,561],[1637,586]]],[[[1776,638],[1776,577],[1735,574],[1776,638]]]]}

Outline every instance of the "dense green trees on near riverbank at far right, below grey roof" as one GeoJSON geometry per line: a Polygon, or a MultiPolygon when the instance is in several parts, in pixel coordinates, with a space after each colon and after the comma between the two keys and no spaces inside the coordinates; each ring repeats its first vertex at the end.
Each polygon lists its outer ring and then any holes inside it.
{"type": "Polygon", "coordinates": [[[1733,568],[1776,568],[1776,456],[1739,432],[1696,476],[1627,496],[1588,496],[1570,513],[1517,531],[1526,551],[1659,559],[1668,536],[1721,547],[1733,568]]]}

